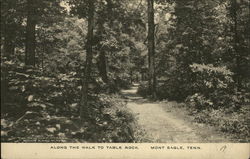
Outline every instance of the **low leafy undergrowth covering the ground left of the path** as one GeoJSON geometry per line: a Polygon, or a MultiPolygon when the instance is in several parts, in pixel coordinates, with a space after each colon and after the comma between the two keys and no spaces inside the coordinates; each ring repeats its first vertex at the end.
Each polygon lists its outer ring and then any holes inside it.
{"type": "Polygon", "coordinates": [[[145,132],[118,95],[89,95],[91,114],[79,118],[81,81],[76,72],[45,74],[2,63],[2,142],[142,142],[145,132]]]}

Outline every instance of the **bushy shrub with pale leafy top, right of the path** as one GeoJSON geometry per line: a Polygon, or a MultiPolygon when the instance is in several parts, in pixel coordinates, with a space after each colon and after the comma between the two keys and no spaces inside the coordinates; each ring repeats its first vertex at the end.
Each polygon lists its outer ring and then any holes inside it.
{"type": "Polygon", "coordinates": [[[240,101],[236,94],[233,73],[225,67],[193,64],[195,82],[193,90],[197,92],[187,98],[189,104],[197,108],[206,107],[239,107],[240,101]],[[203,105],[203,106],[202,106],[203,105]]]}

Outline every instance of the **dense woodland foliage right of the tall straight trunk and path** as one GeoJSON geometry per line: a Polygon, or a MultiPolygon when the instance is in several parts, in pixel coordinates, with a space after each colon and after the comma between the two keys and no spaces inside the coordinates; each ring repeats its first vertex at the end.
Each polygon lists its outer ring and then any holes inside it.
{"type": "MultiPolygon", "coordinates": [[[[157,98],[185,101],[198,121],[249,136],[249,2],[176,0],[155,12],[157,98]]],[[[138,93],[148,90],[141,82],[138,93]]]]}

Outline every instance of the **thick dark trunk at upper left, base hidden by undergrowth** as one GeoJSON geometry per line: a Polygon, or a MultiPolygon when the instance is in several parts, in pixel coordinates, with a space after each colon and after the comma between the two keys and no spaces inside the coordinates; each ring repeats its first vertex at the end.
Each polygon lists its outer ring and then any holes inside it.
{"type": "Polygon", "coordinates": [[[27,26],[26,26],[26,43],[25,43],[25,64],[35,66],[35,49],[36,49],[36,16],[34,0],[27,1],[27,26]]]}

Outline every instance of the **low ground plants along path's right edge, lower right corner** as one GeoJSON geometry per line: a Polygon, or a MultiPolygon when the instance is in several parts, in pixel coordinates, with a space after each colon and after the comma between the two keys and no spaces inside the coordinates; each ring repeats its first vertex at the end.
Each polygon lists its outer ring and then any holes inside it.
{"type": "Polygon", "coordinates": [[[193,111],[192,113],[194,113],[195,121],[199,123],[216,126],[222,132],[233,134],[244,142],[250,140],[249,106],[243,106],[237,112],[232,112],[228,108],[220,108],[193,111]]]}

